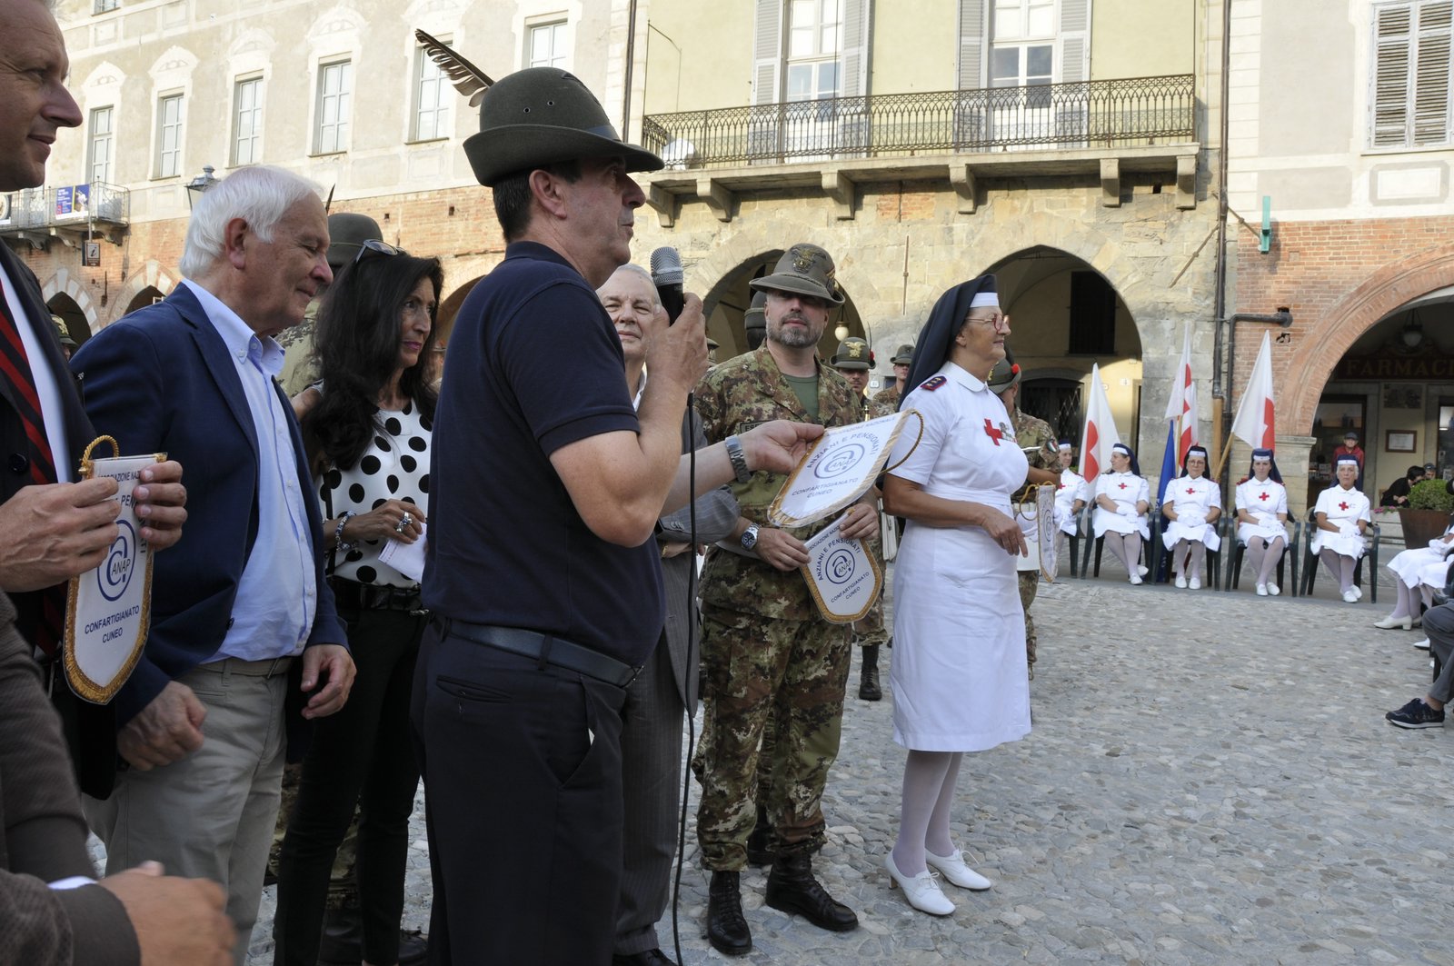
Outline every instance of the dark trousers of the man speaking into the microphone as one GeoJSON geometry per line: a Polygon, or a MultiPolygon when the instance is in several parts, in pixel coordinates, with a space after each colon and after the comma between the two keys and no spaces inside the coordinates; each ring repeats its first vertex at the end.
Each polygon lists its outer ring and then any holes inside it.
{"type": "Polygon", "coordinates": [[[606,966],[621,880],[625,690],[425,633],[413,724],[432,966],[606,966]]]}

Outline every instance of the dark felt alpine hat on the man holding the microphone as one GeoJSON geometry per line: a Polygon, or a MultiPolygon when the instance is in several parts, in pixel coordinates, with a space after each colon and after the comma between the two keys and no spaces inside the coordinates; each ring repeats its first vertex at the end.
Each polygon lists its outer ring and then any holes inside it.
{"type": "Polygon", "coordinates": [[[660,157],[627,144],[586,84],[558,67],[528,67],[496,81],[480,102],[480,132],[465,157],[486,188],[521,172],[586,157],[619,157],[628,172],[654,172],[660,157]]]}

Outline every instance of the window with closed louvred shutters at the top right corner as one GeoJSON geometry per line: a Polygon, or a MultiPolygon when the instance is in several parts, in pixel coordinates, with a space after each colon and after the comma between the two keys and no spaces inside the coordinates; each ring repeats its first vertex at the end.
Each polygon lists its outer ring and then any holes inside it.
{"type": "Polygon", "coordinates": [[[1454,143],[1454,0],[1374,4],[1370,29],[1370,150],[1454,143]],[[1400,13],[1406,17],[1402,32],[1400,13]]]}

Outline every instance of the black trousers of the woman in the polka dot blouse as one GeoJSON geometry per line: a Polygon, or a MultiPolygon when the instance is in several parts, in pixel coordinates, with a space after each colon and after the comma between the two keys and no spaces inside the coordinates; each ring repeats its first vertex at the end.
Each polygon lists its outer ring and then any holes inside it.
{"type": "Polygon", "coordinates": [[[358,893],[364,959],[398,962],[409,816],[419,767],[409,724],[419,640],[427,617],[339,608],[358,674],[348,704],[318,719],[298,803],[278,858],[275,966],[314,966],[333,857],[359,810],[358,893]]]}

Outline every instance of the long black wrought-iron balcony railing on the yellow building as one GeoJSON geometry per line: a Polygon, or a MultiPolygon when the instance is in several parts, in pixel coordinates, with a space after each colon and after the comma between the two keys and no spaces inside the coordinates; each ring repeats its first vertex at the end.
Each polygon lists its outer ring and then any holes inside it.
{"type": "Polygon", "coordinates": [[[1191,141],[1191,74],[827,97],[643,119],[669,167],[1191,141]]]}

